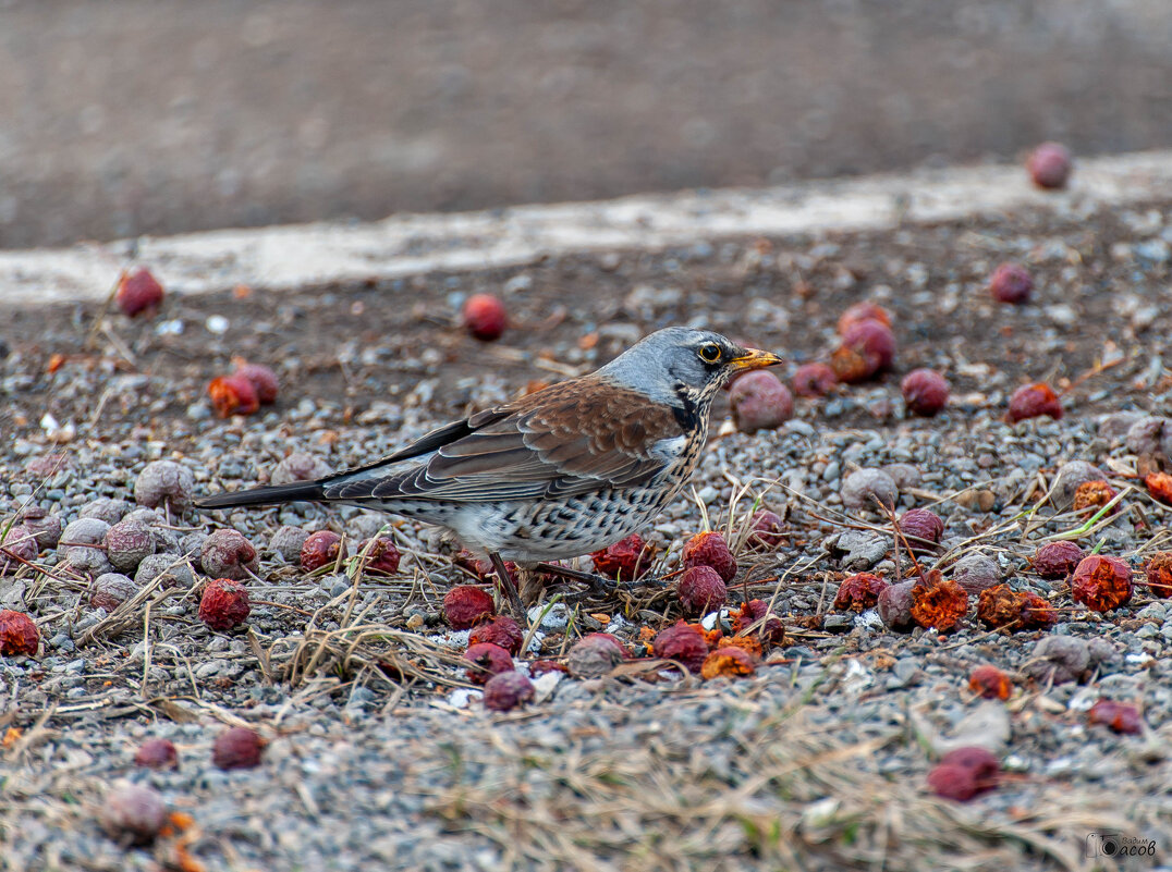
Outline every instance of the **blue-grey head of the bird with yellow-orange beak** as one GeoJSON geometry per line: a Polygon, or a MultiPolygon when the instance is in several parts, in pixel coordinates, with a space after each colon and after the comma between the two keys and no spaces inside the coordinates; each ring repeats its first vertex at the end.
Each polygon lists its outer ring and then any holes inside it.
{"type": "Polygon", "coordinates": [[[707,410],[716,390],[737,373],[761,369],[782,359],[742,348],[728,336],[690,327],[665,327],[598,370],[602,377],[672,406],[681,402],[707,410]]]}

